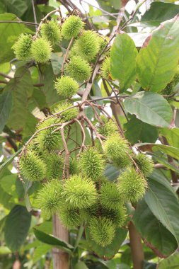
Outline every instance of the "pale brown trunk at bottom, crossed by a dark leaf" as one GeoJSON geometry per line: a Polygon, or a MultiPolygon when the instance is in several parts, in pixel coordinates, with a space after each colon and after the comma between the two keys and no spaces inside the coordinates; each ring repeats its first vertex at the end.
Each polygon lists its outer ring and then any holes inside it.
{"type": "MultiPolygon", "coordinates": [[[[62,226],[59,218],[54,215],[53,217],[53,234],[59,239],[68,242],[69,233],[67,229],[62,226]]],[[[69,255],[64,251],[54,248],[53,249],[53,268],[54,269],[69,269],[69,255]]]]}

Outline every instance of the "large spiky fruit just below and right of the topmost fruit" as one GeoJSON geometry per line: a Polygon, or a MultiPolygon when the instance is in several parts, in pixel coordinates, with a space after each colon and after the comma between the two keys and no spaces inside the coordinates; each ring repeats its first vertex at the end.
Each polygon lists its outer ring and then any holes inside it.
{"type": "Polygon", "coordinates": [[[74,51],[76,55],[81,56],[90,62],[100,49],[100,43],[96,32],[91,30],[83,31],[78,40],[74,43],[74,51]]]}

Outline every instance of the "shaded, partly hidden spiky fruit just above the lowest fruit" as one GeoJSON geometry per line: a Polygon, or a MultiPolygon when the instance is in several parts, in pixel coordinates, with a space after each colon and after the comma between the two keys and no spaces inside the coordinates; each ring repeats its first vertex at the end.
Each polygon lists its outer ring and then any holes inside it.
{"type": "Polygon", "coordinates": [[[110,219],[110,221],[115,224],[116,227],[123,227],[127,219],[126,209],[122,204],[112,210],[102,207],[100,214],[102,217],[107,217],[110,219]]]}

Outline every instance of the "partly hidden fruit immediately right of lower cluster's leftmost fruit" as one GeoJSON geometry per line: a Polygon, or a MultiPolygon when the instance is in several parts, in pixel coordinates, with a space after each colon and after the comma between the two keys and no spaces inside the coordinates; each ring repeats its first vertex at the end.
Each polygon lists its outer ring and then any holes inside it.
{"type": "Polygon", "coordinates": [[[55,153],[46,156],[47,178],[62,179],[64,162],[62,156],[55,153]]]}

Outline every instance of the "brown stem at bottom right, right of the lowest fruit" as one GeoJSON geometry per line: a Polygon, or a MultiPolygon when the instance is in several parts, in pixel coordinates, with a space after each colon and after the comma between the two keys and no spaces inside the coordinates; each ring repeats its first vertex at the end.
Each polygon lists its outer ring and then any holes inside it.
{"type": "Polygon", "coordinates": [[[132,222],[129,224],[129,239],[132,251],[133,269],[142,269],[144,261],[142,241],[137,229],[134,227],[132,222]]]}

